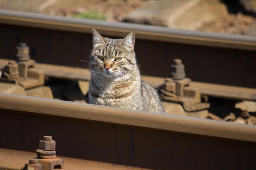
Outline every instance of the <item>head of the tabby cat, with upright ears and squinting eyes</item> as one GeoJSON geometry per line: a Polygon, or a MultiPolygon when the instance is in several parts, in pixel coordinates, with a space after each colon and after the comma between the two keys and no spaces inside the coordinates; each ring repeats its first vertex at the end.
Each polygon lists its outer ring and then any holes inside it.
{"type": "Polygon", "coordinates": [[[124,39],[102,37],[95,29],[93,50],[90,56],[91,74],[102,74],[106,78],[128,77],[136,68],[134,53],[135,34],[129,33],[124,39]]]}

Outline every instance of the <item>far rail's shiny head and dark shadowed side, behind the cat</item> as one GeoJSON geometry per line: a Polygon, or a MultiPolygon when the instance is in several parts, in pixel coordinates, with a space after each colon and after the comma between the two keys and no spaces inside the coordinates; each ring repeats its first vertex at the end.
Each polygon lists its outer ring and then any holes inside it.
{"type": "Polygon", "coordinates": [[[0,10],[0,56],[13,59],[13,45],[26,42],[31,46],[31,58],[37,62],[84,65],[78,59],[88,60],[92,28],[108,37],[135,32],[135,52],[144,75],[167,77],[173,59],[180,58],[186,65],[187,76],[194,81],[256,87],[255,36],[0,10]]]}

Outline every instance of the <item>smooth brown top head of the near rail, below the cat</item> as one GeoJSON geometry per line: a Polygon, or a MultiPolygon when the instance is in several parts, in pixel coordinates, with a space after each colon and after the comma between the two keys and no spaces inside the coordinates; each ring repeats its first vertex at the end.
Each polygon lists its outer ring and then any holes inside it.
{"type": "Polygon", "coordinates": [[[55,99],[0,93],[1,110],[47,114],[256,142],[256,127],[253,125],[82,104],[55,99]]]}

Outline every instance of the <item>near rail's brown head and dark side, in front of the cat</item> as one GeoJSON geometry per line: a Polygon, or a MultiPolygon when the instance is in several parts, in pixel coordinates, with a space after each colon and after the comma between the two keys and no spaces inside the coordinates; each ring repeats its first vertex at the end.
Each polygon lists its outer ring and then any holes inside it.
{"type": "Polygon", "coordinates": [[[0,94],[0,112],[0,148],[34,151],[50,134],[65,157],[147,169],[254,168],[251,125],[9,94],[0,94]]]}

